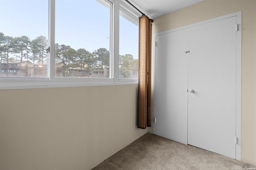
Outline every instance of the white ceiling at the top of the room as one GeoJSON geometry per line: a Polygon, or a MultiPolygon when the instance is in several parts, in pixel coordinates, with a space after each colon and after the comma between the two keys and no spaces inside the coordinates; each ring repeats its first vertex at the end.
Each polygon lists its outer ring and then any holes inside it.
{"type": "Polygon", "coordinates": [[[202,0],[129,0],[149,18],[156,18],[202,0]]]}

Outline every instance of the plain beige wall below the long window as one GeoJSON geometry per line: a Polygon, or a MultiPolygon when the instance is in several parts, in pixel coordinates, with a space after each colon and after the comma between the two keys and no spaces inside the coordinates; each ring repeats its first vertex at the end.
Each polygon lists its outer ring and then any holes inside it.
{"type": "Polygon", "coordinates": [[[89,170],[147,130],[138,85],[0,91],[0,170],[89,170]]]}

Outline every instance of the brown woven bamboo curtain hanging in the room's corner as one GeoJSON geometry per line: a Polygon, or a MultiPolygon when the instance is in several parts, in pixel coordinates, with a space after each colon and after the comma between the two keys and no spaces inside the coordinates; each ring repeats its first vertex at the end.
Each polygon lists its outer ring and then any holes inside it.
{"type": "Polygon", "coordinates": [[[151,45],[152,20],[148,16],[139,17],[139,92],[138,128],[151,127],[151,45]]]}

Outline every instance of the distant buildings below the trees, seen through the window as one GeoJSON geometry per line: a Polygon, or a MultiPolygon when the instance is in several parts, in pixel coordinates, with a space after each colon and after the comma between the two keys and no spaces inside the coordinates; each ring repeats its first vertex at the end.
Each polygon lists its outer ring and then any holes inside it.
{"type": "MultiPolygon", "coordinates": [[[[103,67],[86,69],[82,67],[67,67],[62,61],[55,61],[56,77],[86,77],[86,78],[104,78],[109,75],[109,68],[103,67]]],[[[48,77],[48,61],[22,61],[10,58],[9,62],[5,59],[0,63],[0,77],[48,77]]]]}

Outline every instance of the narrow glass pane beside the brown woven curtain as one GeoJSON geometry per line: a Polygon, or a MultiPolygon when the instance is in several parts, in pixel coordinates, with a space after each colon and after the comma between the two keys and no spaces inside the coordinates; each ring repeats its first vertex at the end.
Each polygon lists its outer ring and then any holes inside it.
{"type": "Polygon", "coordinates": [[[119,23],[119,79],[138,79],[138,22],[120,10],[119,23]]]}

